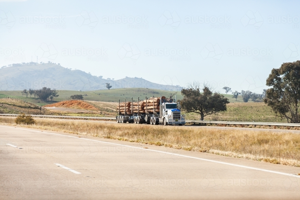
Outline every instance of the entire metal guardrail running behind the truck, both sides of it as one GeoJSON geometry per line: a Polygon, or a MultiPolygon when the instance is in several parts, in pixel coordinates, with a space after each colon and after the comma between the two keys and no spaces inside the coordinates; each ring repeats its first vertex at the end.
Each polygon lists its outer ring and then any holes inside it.
{"type": "MultiPolygon", "coordinates": [[[[18,114],[0,114],[0,116],[19,116],[18,114]]],[[[31,115],[32,117],[47,117],[47,118],[81,118],[81,119],[109,119],[116,120],[114,117],[82,117],[82,116],[61,116],[61,115],[31,115]]],[[[186,123],[199,124],[240,124],[240,125],[266,125],[266,126],[290,126],[300,127],[300,124],[291,123],[272,123],[272,122],[243,122],[243,121],[200,121],[200,120],[185,120],[186,123]]]]}

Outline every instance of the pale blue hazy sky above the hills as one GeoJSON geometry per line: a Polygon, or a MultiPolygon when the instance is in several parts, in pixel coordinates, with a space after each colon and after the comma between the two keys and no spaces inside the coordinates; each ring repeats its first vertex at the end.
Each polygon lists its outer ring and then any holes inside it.
{"type": "Polygon", "coordinates": [[[38,59],[105,79],[182,87],[197,81],[220,92],[226,86],[261,93],[271,69],[300,57],[299,6],[0,0],[0,67],[38,59]]]}

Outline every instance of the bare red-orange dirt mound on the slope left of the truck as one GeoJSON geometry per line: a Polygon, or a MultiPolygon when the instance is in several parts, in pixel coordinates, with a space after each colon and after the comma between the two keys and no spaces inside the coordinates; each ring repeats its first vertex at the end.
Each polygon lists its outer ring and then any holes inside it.
{"type": "Polygon", "coordinates": [[[81,100],[70,100],[70,101],[61,101],[58,103],[53,103],[45,105],[43,107],[56,107],[56,108],[73,108],[73,109],[85,109],[85,110],[98,110],[95,106],[86,103],[81,100]]]}

